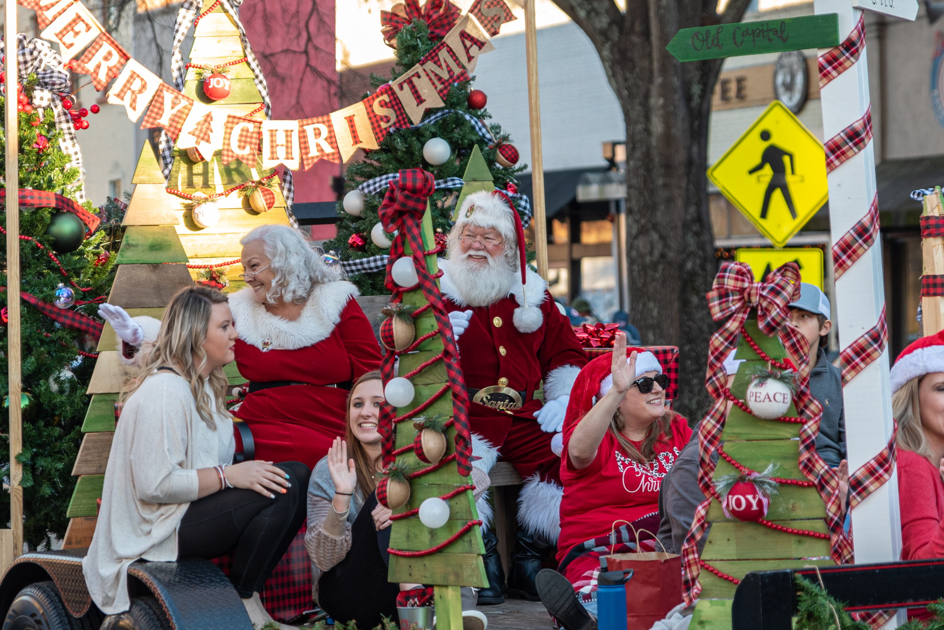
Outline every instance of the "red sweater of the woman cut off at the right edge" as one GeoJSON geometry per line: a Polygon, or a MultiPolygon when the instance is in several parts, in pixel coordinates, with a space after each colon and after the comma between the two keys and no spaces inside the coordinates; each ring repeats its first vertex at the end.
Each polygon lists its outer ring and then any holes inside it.
{"type": "Polygon", "coordinates": [[[944,496],[937,469],[911,451],[898,451],[898,503],[902,515],[902,560],[944,557],[944,496]]]}

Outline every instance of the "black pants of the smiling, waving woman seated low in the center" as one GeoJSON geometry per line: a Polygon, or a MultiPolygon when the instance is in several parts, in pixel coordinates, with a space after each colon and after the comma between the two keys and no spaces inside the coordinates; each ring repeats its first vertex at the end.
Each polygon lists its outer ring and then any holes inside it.
{"type": "Polygon", "coordinates": [[[377,496],[367,497],[351,525],[351,548],[345,559],[318,580],[318,604],[335,622],[357,621],[373,628],[381,617],[396,623],[396,594],[399,585],[387,582],[390,555],[390,527],[377,531],[371,512],[377,496]]]}

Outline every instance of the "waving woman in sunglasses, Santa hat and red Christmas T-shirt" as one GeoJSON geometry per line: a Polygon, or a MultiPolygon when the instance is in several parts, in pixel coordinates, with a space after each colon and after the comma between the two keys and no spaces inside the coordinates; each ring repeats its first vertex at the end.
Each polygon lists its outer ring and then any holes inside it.
{"type": "MultiPolygon", "coordinates": [[[[615,553],[634,551],[632,528],[617,521],[647,530],[639,532],[640,540],[655,538],[659,529],[662,479],[692,436],[685,419],[666,407],[667,387],[656,357],[638,348],[628,352],[620,332],[613,353],[590,361],[570,392],[559,572],[542,571],[536,580],[541,601],[567,630],[588,627],[590,615],[596,616],[597,593],[588,585],[600,555],[608,555],[613,542],[615,553]]],[[[651,544],[645,551],[650,550],[651,544]]]]}

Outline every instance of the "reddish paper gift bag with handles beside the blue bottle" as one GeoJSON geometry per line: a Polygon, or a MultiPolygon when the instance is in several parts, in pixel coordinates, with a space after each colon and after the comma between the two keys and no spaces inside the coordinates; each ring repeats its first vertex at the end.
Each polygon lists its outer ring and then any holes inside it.
{"type": "MultiPolygon", "coordinates": [[[[632,527],[632,523],[627,524],[632,527]]],[[[640,532],[652,535],[645,529],[636,531],[632,527],[632,531],[636,534],[636,549],[639,549],[640,532]]],[[[627,630],[649,630],[655,622],[666,619],[669,610],[682,604],[681,555],[666,553],[663,547],[661,552],[605,557],[604,571],[632,569],[632,579],[626,584],[627,630]]]]}

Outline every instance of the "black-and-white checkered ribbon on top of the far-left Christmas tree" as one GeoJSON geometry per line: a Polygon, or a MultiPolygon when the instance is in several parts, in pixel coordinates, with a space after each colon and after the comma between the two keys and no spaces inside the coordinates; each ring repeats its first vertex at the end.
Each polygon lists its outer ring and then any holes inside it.
{"type": "MultiPolygon", "coordinates": [[[[3,38],[0,38],[0,43],[3,38]]],[[[76,141],[76,127],[72,124],[72,116],[62,107],[59,94],[69,92],[71,83],[69,75],[62,70],[62,58],[48,42],[34,40],[19,33],[16,36],[16,72],[20,81],[25,82],[29,75],[35,74],[39,79],[33,88],[31,105],[37,108],[37,114],[42,119],[43,108],[52,108],[56,116],[56,127],[62,131],[59,139],[59,148],[69,156],[69,166],[78,169],[78,191],[76,201],[85,201],[85,169],[82,168],[82,151],[76,141]]]]}

